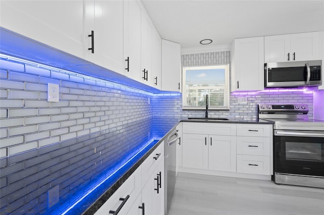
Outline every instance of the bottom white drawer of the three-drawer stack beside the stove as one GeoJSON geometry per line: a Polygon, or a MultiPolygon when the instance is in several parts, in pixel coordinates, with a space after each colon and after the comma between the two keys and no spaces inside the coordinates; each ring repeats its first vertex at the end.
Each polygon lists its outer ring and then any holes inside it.
{"type": "Polygon", "coordinates": [[[236,155],[236,171],[238,173],[251,173],[271,175],[269,156],[236,155]]]}

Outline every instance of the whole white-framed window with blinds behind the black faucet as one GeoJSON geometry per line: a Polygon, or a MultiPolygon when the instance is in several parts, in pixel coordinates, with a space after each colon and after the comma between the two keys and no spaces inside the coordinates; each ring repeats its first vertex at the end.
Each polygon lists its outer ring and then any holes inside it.
{"type": "Polygon", "coordinates": [[[229,110],[229,65],[183,68],[183,109],[229,110]]]}

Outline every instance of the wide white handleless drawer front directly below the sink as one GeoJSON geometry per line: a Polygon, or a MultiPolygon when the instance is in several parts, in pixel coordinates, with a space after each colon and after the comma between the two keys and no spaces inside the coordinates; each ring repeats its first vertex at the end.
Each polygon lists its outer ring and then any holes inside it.
{"type": "Polygon", "coordinates": [[[236,135],[236,124],[231,123],[183,123],[183,133],[187,134],[212,134],[236,135]]]}

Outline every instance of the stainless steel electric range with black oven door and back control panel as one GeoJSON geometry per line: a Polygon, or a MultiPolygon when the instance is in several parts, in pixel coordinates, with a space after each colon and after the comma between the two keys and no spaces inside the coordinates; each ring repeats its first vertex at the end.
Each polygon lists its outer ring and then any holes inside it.
{"type": "Polygon", "coordinates": [[[324,188],[324,121],[307,104],[259,104],[259,119],[273,121],[276,184],[324,188]]]}

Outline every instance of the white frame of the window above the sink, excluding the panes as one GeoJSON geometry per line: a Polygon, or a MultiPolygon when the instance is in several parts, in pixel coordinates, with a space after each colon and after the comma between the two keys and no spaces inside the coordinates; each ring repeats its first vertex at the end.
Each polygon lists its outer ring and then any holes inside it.
{"type": "MultiPolygon", "coordinates": [[[[219,64],[219,65],[207,65],[207,66],[186,66],[182,68],[182,109],[183,110],[205,110],[206,106],[187,106],[187,90],[186,90],[186,70],[188,69],[225,69],[225,86],[220,86],[218,89],[224,89],[224,106],[211,106],[209,105],[209,110],[229,110],[229,97],[230,97],[230,91],[229,91],[229,64],[219,64]],[[227,92],[227,93],[225,93],[227,92]]],[[[191,87],[190,89],[194,89],[194,87],[191,87]]],[[[196,87],[196,89],[215,89],[212,87],[196,87]]],[[[210,100],[209,100],[210,101],[210,100]]],[[[210,104],[210,102],[209,102],[210,104]]]]}

